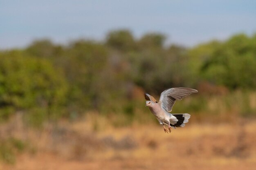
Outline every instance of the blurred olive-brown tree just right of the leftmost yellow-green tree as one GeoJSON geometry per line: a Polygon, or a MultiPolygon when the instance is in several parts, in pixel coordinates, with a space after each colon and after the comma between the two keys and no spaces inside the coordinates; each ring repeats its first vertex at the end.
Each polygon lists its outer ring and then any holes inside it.
{"type": "Polygon", "coordinates": [[[98,88],[103,86],[107,55],[105,46],[92,41],[78,40],[66,49],[63,67],[71,84],[71,103],[97,109],[101,100],[98,88]]]}

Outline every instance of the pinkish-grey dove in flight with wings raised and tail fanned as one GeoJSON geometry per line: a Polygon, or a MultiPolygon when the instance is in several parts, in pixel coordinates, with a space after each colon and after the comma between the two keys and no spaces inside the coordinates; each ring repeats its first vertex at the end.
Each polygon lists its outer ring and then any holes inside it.
{"type": "Polygon", "coordinates": [[[149,107],[151,113],[157,118],[159,124],[163,125],[165,133],[168,133],[168,130],[171,133],[171,128],[184,127],[185,123],[189,122],[190,115],[188,113],[171,114],[170,112],[176,100],[182,100],[192,93],[198,93],[198,91],[186,87],[168,88],[161,93],[159,102],[153,96],[144,93],[146,106],[149,107]],[[168,126],[168,130],[164,125],[168,126]]]}

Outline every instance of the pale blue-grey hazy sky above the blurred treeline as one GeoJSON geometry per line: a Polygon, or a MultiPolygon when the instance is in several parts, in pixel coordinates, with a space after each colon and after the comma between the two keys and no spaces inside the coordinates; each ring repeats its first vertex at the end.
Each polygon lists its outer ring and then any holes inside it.
{"type": "Polygon", "coordinates": [[[0,49],[43,38],[104,40],[118,29],[135,38],[163,33],[168,43],[184,46],[252,35],[256,0],[0,0],[0,49]]]}

